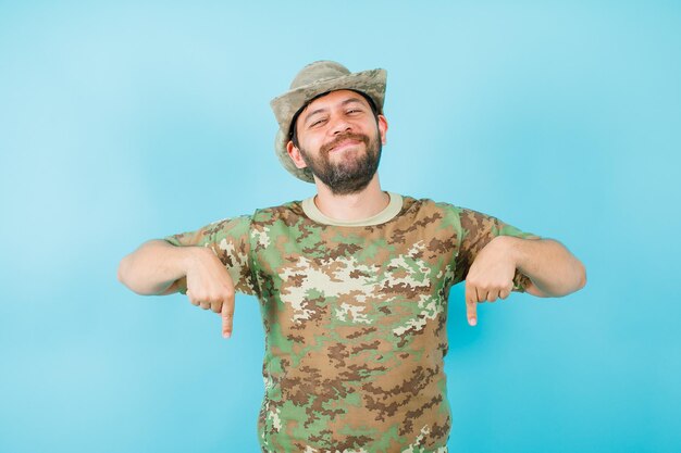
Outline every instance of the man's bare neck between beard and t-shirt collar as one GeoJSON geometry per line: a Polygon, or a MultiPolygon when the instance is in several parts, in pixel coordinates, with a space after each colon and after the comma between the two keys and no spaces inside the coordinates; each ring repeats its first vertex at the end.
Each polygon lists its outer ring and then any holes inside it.
{"type": "Polygon", "coordinates": [[[362,191],[347,196],[336,196],[327,186],[317,181],[317,197],[314,198],[317,209],[325,216],[337,221],[360,221],[372,217],[383,211],[389,201],[391,197],[381,190],[377,173],[362,191]]]}

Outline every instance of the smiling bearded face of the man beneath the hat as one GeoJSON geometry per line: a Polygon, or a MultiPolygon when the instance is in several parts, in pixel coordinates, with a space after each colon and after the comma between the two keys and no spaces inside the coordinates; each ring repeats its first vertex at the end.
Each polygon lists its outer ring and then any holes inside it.
{"type": "Polygon", "coordinates": [[[298,144],[289,154],[334,194],[356,193],[369,185],[381,160],[387,123],[374,116],[357,92],[332,91],[310,102],[296,122],[298,144]]]}

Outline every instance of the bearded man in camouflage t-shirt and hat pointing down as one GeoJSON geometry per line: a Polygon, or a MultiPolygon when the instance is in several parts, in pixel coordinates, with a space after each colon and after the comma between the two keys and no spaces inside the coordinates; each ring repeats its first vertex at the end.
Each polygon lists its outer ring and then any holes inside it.
{"type": "Polygon", "coordinates": [[[447,298],[560,297],[582,264],[560,243],[447,203],[381,189],[386,73],[304,67],[272,101],[276,152],[317,196],[143,244],[119,278],[221,313],[255,294],[265,328],[263,452],[446,452],[447,298]],[[169,243],[170,242],[170,243],[169,243]]]}

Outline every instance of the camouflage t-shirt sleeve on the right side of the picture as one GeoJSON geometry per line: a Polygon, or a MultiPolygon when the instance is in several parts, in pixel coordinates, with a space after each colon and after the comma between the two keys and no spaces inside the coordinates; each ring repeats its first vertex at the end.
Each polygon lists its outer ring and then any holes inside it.
{"type": "MultiPolygon", "coordinates": [[[[521,239],[540,239],[531,232],[524,232],[496,217],[476,211],[461,209],[459,212],[459,253],[456,259],[456,281],[466,279],[478,253],[497,236],[512,236],[521,239]]],[[[530,278],[516,269],[513,291],[524,292],[530,278]]]]}

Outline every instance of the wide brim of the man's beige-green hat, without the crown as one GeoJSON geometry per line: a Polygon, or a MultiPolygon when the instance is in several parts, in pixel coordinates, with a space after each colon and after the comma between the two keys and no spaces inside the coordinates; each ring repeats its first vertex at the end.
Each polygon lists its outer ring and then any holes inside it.
{"type": "Polygon", "coordinates": [[[288,131],[294,115],[302,109],[311,99],[330,91],[355,90],[369,96],[376,111],[383,113],[383,102],[385,100],[385,80],[387,72],[385,70],[370,70],[360,73],[348,74],[342,77],[315,80],[285,92],[274,98],[270,105],[274,111],[274,116],[280,125],[280,129],[274,138],[274,150],[280,162],[290,174],[307,183],[314,183],[309,168],[298,168],[290,160],[286,144],[288,143],[288,131]]]}

